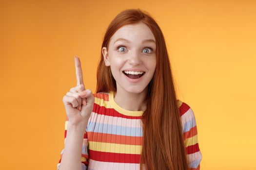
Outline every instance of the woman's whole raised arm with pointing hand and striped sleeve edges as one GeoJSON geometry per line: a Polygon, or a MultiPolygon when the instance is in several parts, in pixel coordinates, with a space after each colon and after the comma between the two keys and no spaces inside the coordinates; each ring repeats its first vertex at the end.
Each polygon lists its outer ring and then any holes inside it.
{"type": "Polygon", "coordinates": [[[70,89],[70,92],[63,97],[68,123],[64,142],[64,149],[59,170],[86,170],[88,164],[88,153],[86,149],[86,139],[84,139],[85,129],[88,119],[94,107],[94,95],[90,89],[85,90],[80,59],[75,57],[77,86],[70,89]],[[83,155],[82,155],[82,152],[83,155]]]}

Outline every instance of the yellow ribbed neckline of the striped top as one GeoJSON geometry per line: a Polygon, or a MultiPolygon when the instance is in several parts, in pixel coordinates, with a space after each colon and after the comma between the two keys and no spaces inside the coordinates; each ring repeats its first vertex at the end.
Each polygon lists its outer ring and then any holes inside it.
{"type": "Polygon", "coordinates": [[[131,111],[131,110],[126,110],[119,106],[115,100],[114,100],[114,92],[110,91],[109,92],[109,102],[111,102],[112,107],[118,111],[120,114],[126,115],[126,116],[142,116],[144,111],[131,111]]]}

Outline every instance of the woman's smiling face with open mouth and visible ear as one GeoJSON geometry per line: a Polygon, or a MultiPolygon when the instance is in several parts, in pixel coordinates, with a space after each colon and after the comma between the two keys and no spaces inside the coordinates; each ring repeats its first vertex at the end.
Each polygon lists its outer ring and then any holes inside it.
{"type": "Polygon", "coordinates": [[[117,90],[129,93],[147,90],[156,70],[155,42],[150,28],[136,23],[119,28],[110,39],[109,49],[102,48],[105,65],[111,68],[117,90]]]}

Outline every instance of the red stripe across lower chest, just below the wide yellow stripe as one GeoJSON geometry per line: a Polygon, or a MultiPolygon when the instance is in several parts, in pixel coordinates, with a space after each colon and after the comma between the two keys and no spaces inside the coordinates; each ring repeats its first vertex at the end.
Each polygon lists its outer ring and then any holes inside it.
{"type": "Polygon", "coordinates": [[[116,163],[140,163],[140,154],[127,153],[107,153],[89,150],[89,158],[96,161],[116,162],[116,163]]]}

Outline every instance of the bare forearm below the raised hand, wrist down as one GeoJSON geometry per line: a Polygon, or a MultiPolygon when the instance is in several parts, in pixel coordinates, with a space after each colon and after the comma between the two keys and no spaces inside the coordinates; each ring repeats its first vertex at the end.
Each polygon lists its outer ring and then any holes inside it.
{"type": "Polygon", "coordinates": [[[84,129],[68,124],[64,151],[59,170],[81,170],[84,129]]]}

